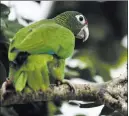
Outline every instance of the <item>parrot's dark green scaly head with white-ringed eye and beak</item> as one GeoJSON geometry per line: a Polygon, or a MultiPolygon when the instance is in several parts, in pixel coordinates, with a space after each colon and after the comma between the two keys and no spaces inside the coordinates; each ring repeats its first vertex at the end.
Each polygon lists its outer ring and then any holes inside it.
{"type": "Polygon", "coordinates": [[[66,11],[57,15],[56,23],[70,29],[76,38],[86,41],[89,37],[88,21],[86,17],[77,11],[66,11]]]}

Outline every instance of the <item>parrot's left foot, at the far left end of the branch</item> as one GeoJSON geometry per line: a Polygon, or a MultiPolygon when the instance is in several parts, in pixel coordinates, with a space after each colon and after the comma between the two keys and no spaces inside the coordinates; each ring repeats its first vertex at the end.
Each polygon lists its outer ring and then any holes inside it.
{"type": "Polygon", "coordinates": [[[15,88],[11,80],[6,79],[6,81],[2,84],[1,87],[1,99],[5,99],[10,93],[13,93],[15,88]]]}

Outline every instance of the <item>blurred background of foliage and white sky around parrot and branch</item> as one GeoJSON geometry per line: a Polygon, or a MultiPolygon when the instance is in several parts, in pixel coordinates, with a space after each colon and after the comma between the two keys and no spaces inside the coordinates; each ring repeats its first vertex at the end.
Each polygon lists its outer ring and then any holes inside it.
{"type": "MultiPolygon", "coordinates": [[[[74,55],[66,60],[66,79],[74,83],[101,83],[127,71],[127,1],[1,1],[0,86],[8,76],[8,47],[14,34],[31,23],[67,10],[86,16],[90,35],[85,43],[76,40],[74,55]]],[[[1,115],[121,116],[103,105],[79,108],[77,101],[53,102],[49,106],[33,103],[1,107],[1,115]]]]}

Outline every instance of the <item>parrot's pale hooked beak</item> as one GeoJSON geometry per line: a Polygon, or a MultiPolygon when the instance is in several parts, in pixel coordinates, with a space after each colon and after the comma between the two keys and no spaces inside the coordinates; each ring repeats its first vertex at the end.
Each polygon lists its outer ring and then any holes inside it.
{"type": "Polygon", "coordinates": [[[89,37],[89,29],[88,25],[85,25],[81,31],[77,34],[76,38],[83,39],[83,42],[85,42],[89,37]]]}

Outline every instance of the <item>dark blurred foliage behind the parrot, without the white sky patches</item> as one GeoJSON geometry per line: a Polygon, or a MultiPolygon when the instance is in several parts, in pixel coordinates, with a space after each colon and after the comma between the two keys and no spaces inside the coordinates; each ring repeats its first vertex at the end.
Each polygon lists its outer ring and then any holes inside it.
{"type": "MultiPolygon", "coordinates": [[[[36,1],[40,4],[40,1],[36,1]]],[[[0,29],[0,85],[8,76],[8,46],[11,39],[18,29],[24,27],[17,20],[9,21],[8,15],[10,9],[0,4],[1,12],[1,29],[0,29]]],[[[67,10],[76,10],[81,12],[88,19],[89,39],[82,43],[76,40],[75,50],[77,53],[73,55],[71,60],[78,59],[86,66],[72,67],[67,65],[66,78],[81,78],[85,81],[96,82],[94,77],[101,76],[104,81],[110,80],[110,70],[118,68],[127,62],[127,48],[122,46],[121,42],[124,36],[128,35],[128,2],[127,1],[58,1],[54,3],[53,10],[48,18],[52,18],[59,13],[67,10]]],[[[26,22],[32,22],[31,19],[25,19],[26,22]]],[[[62,102],[55,102],[56,106],[61,106],[62,102]]],[[[51,106],[53,107],[53,106],[51,106]]],[[[47,116],[43,109],[48,109],[43,103],[35,103],[11,106],[9,108],[1,107],[2,116],[47,116]]],[[[52,108],[51,108],[52,109],[52,108]]],[[[60,110],[56,112],[61,113],[60,110]]],[[[85,114],[86,115],[86,114],[85,114]]],[[[109,110],[109,115],[112,114],[109,110]]],[[[79,115],[78,115],[79,116],[79,115]]],[[[82,116],[82,115],[81,115],[82,116]]]]}

